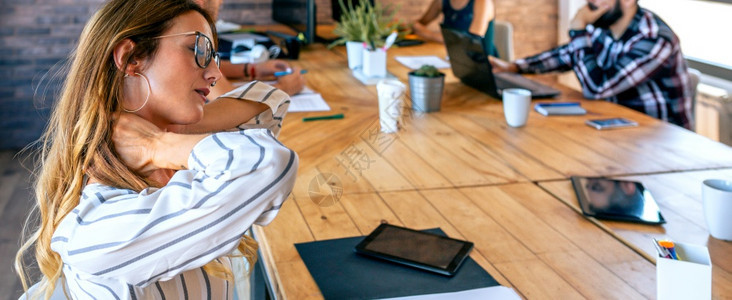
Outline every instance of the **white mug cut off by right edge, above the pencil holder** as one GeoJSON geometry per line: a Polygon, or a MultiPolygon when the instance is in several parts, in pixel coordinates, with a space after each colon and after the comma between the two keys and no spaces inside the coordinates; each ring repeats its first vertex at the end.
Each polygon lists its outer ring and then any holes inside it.
{"type": "Polygon", "coordinates": [[[704,180],[702,201],[709,233],[714,238],[732,241],[732,180],[704,180]]]}

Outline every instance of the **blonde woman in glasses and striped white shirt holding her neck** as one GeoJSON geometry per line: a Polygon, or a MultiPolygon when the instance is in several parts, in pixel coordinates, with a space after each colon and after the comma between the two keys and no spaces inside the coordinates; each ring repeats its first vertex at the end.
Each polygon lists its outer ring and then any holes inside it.
{"type": "Polygon", "coordinates": [[[112,0],[88,22],[43,137],[31,298],[231,299],[228,255],[289,195],[297,155],[275,136],[287,95],[221,78],[210,16],[185,0],[112,0]],[[226,113],[222,113],[226,112],[226,113]],[[57,286],[58,283],[58,286],[57,286]]]}

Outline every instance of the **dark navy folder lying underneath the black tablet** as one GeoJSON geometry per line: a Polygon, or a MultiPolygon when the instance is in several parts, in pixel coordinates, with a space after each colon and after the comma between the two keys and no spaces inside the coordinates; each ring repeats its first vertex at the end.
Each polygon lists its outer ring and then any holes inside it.
{"type": "MultiPolygon", "coordinates": [[[[439,228],[423,230],[445,236],[439,228]]],[[[356,254],[364,237],[295,244],[325,299],[374,299],[458,292],[496,282],[468,257],[453,277],[356,254]]]]}

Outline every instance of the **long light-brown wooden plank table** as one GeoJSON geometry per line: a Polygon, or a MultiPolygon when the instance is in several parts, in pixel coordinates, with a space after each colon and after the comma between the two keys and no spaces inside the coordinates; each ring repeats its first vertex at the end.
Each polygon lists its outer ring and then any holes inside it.
{"type": "MultiPolygon", "coordinates": [[[[706,175],[695,172],[717,170],[729,178],[732,148],[612,103],[583,100],[552,76],[535,79],[561,89],[557,100],[581,101],[588,114],[544,117],[532,111],[525,127],[511,128],[501,102],[463,85],[450,70],[443,70],[440,112],[407,111],[398,133],[382,134],[376,88],[353,77],[342,48],[309,46],[293,62],[308,69],[307,85],[331,111],[288,114],[280,135],[300,156],[298,179],[277,218],[254,228],[278,299],[322,298],[294,244],[366,235],[381,222],[440,227],[470,240],[471,257],[499,283],[541,299],[655,298],[645,239],[673,232],[670,238],[710,247],[714,296],[732,295],[730,244],[706,233],[698,191],[706,175]],[[345,118],[302,121],[335,113],[345,118]],[[584,125],[602,117],[626,117],[640,126],[597,131],[584,125]],[[674,180],[655,185],[664,174],[674,180]],[[687,183],[687,174],[690,184],[676,184],[687,183]],[[571,175],[654,183],[670,222],[648,227],[587,219],[576,210],[571,175]],[[324,193],[328,186],[323,189],[318,179],[342,195],[324,193]],[[682,201],[692,204],[677,203],[682,201]],[[691,208],[689,216],[685,208],[691,208]],[[684,218],[695,227],[680,228],[676,222],[684,218]]],[[[388,70],[406,84],[409,70],[394,60],[397,55],[445,57],[445,49],[390,49],[388,70]]]]}

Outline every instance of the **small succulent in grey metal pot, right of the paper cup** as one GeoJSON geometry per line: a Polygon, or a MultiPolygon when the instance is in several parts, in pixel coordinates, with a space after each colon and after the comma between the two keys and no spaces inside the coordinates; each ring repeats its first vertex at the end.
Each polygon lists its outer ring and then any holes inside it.
{"type": "Polygon", "coordinates": [[[412,96],[412,109],[418,112],[440,110],[445,74],[432,65],[422,65],[409,72],[409,93],[412,96]]]}

